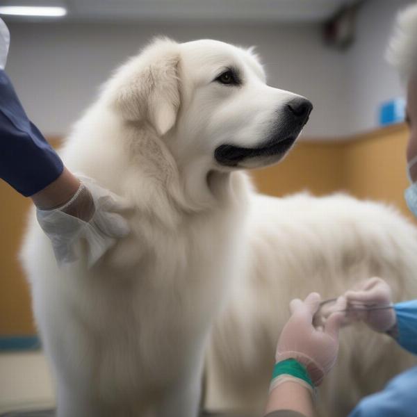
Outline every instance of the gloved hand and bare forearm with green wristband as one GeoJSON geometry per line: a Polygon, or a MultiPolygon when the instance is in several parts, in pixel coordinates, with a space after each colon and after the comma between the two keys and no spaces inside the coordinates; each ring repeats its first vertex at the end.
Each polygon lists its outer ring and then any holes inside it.
{"type": "Polygon", "coordinates": [[[338,299],[339,312],[329,316],[324,327],[313,327],[313,316],[320,306],[320,295],[309,294],[304,302],[290,303],[291,318],[281,331],[275,352],[268,417],[313,417],[316,386],[332,369],[338,351],[345,300],[338,299]]]}

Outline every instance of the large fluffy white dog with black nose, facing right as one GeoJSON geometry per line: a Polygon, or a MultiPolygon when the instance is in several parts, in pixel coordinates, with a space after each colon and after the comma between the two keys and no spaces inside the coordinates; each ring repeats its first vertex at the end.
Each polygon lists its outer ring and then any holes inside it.
{"type": "Polygon", "coordinates": [[[90,270],[80,243],[81,261],[60,270],[32,216],[22,250],[58,417],[195,417],[222,311],[208,386],[256,409],[292,296],[337,295],[370,270],[391,272],[395,295],[414,291],[417,236],[398,215],[347,197],[262,197],[239,172],[279,161],[311,108],[266,85],[251,50],[213,40],[156,40],[104,85],[61,155],[129,201],[132,232],[90,270]]]}

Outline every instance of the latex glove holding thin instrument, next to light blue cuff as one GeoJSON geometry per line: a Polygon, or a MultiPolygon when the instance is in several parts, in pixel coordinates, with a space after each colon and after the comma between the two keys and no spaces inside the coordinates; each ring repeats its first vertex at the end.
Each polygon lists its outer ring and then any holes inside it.
{"type": "Polygon", "coordinates": [[[350,321],[362,320],[376,332],[386,332],[392,329],[397,322],[394,309],[366,310],[363,307],[386,307],[392,306],[391,288],[386,282],[378,277],[359,282],[350,291],[346,291],[347,308],[354,311],[347,313],[350,321]]]}

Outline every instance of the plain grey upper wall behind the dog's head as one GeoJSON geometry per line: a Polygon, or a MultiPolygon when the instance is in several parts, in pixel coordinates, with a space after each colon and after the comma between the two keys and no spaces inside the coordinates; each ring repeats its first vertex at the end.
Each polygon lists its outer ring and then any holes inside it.
{"type": "Polygon", "coordinates": [[[6,70],[35,124],[46,135],[63,135],[113,68],[153,35],[255,44],[270,85],[313,101],[304,136],[340,137],[377,126],[379,104],[402,95],[384,50],[395,11],[411,2],[368,0],[357,20],[357,42],[345,53],[322,44],[318,24],[10,23],[6,70]]]}

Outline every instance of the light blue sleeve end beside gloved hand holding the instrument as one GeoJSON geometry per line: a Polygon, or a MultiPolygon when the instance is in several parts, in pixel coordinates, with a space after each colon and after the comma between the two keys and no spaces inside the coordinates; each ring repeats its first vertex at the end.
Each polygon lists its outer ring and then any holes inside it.
{"type": "Polygon", "coordinates": [[[411,353],[417,354],[417,300],[394,305],[397,315],[398,343],[411,353]]]}

